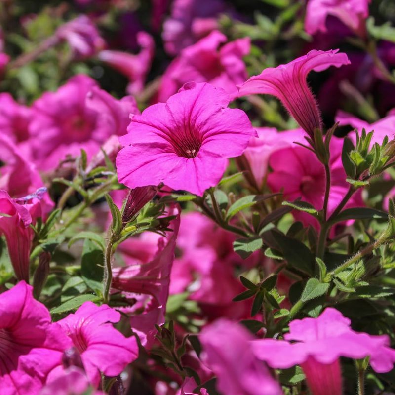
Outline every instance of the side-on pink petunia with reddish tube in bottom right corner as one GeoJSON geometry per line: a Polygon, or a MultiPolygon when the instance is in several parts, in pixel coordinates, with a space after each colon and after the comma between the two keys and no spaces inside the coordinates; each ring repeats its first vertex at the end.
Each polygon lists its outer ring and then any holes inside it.
{"type": "Polygon", "coordinates": [[[329,307],[318,318],[291,321],[285,340],[253,340],[252,351],[272,368],[301,364],[314,395],[341,395],[340,356],[370,356],[370,365],[378,373],[390,371],[395,362],[388,336],[355,332],[350,325],[350,319],[329,307]]]}

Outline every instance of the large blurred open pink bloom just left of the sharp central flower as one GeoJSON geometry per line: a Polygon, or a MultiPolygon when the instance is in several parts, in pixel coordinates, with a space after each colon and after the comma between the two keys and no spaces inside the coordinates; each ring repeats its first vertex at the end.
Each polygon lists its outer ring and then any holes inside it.
{"type": "Polygon", "coordinates": [[[32,156],[43,170],[67,156],[78,156],[81,149],[90,159],[111,135],[126,132],[134,109],[134,100],[116,100],[93,79],[75,76],[34,103],[29,124],[32,156]]]}

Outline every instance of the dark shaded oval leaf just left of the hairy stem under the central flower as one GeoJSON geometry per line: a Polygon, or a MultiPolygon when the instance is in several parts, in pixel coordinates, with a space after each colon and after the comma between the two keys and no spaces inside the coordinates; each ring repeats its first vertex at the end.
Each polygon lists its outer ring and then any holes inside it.
{"type": "Polygon", "coordinates": [[[103,250],[94,241],[86,238],[82,249],[81,277],[98,296],[102,295],[103,262],[103,250]]]}

